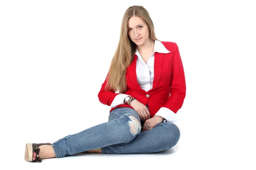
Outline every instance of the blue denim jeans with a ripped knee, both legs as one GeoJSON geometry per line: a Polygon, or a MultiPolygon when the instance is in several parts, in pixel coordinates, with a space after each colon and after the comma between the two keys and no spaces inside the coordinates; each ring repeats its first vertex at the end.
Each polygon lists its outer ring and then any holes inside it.
{"type": "Polygon", "coordinates": [[[103,154],[153,153],[175,146],[180,139],[179,128],[171,122],[141,132],[143,124],[133,108],[116,108],[108,122],[59,139],[52,147],[57,158],[97,148],[103,154]]]}

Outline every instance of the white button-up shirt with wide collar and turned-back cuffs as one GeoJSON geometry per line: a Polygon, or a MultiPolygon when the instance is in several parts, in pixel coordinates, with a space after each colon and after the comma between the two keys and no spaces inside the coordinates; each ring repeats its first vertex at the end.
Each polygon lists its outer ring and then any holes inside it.
{"type": "MultiPolygon", "coordinates": [[[[137,74],[137,81],[140,85],[140,87],[144,91],[149,91],[152,89],[153,80],[154,80],[154,53],[169,53],[162,42],[155,40],[154,43],[154,52],[151,54],[151,56],[148,58],[147,63],[144,62],[142,59],[140,52],[136,51],[137,62],[136,62],[136,74],[137,74]]],[[[118,94],[113,99],[113,102],[110,105],[110,108],[114,108],[118,105],[124,104],[125,97],[130,96],[127,94],[118,94]]],[[[164,118],[163,122],[175,122],[177,120],[177,115],[173,111],[171,111],[169,108],[160,108],[157,113],[154,116],[161,116],[164,118]],[[166,120],[165,120],[166,119],[166,120]]]]}

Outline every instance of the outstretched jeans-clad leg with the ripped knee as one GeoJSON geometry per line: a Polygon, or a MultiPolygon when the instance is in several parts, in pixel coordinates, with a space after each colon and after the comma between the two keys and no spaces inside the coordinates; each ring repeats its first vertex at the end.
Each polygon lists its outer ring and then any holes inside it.
{"type": "Polygon", "coordinates": [[[127,143],[140,133],[140,116],[134,109],[116,108],[109,115],[109,119],[112,118],[113,120],[109,122],[53,142],[52,147],[56,157],[61,158],[113,144],[127,143]]]}

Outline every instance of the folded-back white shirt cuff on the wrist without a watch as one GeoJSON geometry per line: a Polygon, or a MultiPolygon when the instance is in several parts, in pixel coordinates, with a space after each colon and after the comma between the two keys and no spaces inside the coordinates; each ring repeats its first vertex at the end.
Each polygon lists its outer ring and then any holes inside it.
{"type": "Polygon", "coordinates": [[[171,111],[169,108],[160,108],[154,116],[161,116],[164,118],[163,122],[174,123],[177,121],[177,114],[171,111]]]}

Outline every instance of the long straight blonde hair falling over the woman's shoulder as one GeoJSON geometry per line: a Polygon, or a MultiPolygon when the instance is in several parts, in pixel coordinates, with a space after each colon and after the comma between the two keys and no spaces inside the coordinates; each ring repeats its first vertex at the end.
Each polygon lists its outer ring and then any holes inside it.
{"type": "Polygon", "coordinates": [[[142,17],[144,22],[148,24],[149,38],[157,40],[154,33],[154,24],[148,11],[143,6],[130,6],[122,18],[120,38],[108,70],[108,81],[105,90],[118,91],[119,93],[125,93],[127,90],[126,68],[133,61],[137,49],[137,45],[131,41],[128,35],[128,20],[133,16],[142,17]]]}

